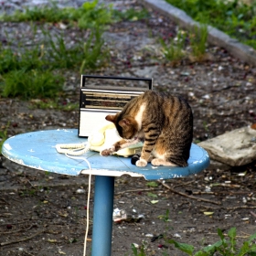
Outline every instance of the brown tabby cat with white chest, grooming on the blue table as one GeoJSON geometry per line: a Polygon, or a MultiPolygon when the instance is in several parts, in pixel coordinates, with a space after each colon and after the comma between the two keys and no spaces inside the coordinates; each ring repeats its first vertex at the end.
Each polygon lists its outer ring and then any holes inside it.
{"type": "Polygon", "coordinates": [[[193,114],[187,101],[169,93],[145,91],[106,120],[115,124],[123,139],[101,155],[144,142],[137,166],[150,161],[152,165],[187,166],[193,137],[193,114]]]}

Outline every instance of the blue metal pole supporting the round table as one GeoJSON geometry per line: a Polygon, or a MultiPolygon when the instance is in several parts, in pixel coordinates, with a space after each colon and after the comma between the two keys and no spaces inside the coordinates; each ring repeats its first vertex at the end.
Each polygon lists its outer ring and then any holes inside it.
{"type": "Polygon", "coordinates": [[[113,176],[95,176],[92,256],[111,256],[113,176]]]}

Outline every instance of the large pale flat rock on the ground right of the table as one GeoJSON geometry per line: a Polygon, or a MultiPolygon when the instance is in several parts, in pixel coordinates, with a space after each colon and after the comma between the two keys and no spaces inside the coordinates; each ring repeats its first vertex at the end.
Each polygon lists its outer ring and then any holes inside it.
{"type": "Polygon", "coordinates": [[[256,130],[243,127],[199,143],[211,159],[231,166],[250,164],[256,160],[256,130]]]}

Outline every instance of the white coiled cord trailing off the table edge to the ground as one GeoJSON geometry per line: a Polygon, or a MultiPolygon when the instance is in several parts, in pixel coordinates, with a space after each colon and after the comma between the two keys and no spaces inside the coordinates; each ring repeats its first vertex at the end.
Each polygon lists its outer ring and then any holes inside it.
{"type": "MultiPolygon", "coordinates": [[[[87,163],[90,171],[91,164],[85,157],[79,157],[77,155],[85,154],[90,149],[90,145],[85,144],[57,144],[56,150],[59,153],[65,154],[67,157],[72,159],[80,159],[87,163]]],[[[90,196],[91,196],[91,172],[89,175],[89,186],[88,186],[88,196],[87,196],[87,209],[86,209],[86,231],[84,237],[84,247],[83,247],[83,256],[86,256],[86,245],[87,237],[89,231],[89,206],[90,206],[90,196]]]]}

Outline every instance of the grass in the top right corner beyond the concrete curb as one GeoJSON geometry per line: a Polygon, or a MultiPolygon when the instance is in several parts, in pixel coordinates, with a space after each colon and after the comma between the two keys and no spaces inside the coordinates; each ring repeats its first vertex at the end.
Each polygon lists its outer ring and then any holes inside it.
{"type": "Polygon", "coordinates": [[[239,0],[165,0],[183,9],[200,23],[205,23],[236,37],[256,49],[256,1],[239,0]]]}

